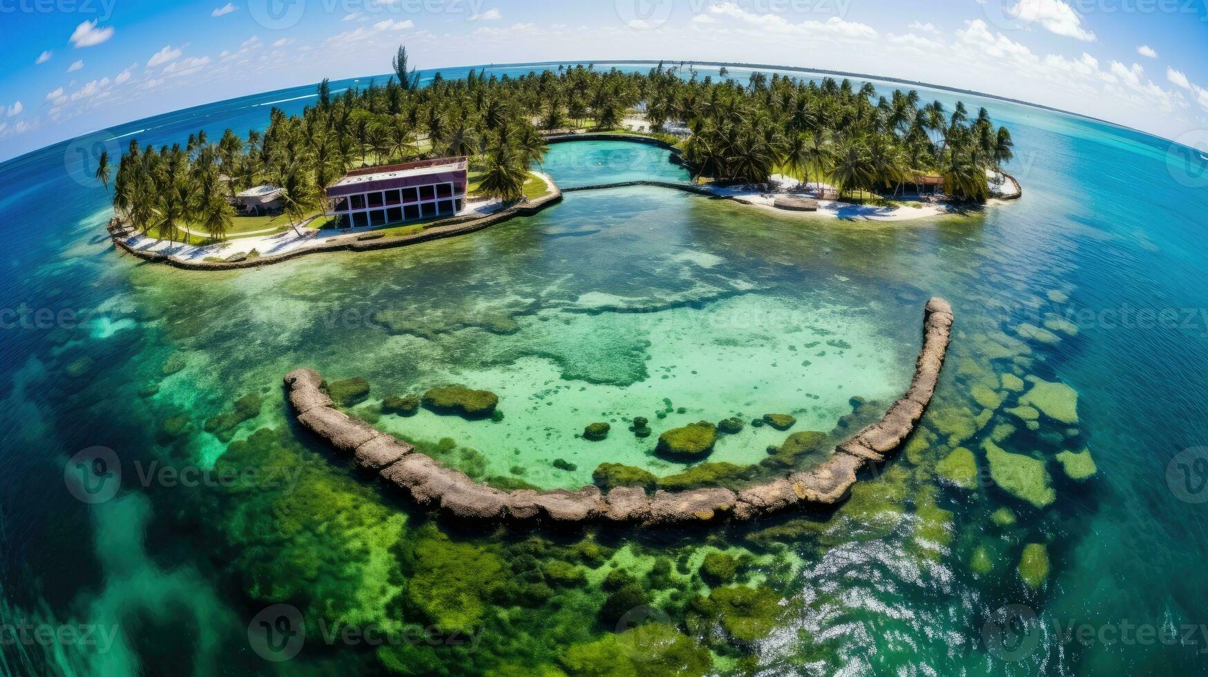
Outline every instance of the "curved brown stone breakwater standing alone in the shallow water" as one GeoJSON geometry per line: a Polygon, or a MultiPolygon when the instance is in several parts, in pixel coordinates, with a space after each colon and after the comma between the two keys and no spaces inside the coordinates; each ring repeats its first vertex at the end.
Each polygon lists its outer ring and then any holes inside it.
{"type": "Polygon", "coordinates": [[[848,496],[856,473],[882,463],[910,436],[931,401],[952,336],[952,306],[942,299],[927,303],[923,349],[910,390],[881,421],[835,447],[820,465],[790,473],[739,491],[697,488],[684,492],[641,487],[614,487],[608,493],[586,486],[577,491],[501,491],[478,484],[418,453],[405,441],[378,432],[335,407],[321,389],[323,377],[298,369],[285,377],[290,404],[298,422],[352,456],[362,469],[377,473],[401,488],[417,504],[463,520],[501,520],[506,523],[544,521],[556,525],[614,522],[640,526],[686,526],[732,516],[749,520],[803,505],[832,505],[848,496]]]}

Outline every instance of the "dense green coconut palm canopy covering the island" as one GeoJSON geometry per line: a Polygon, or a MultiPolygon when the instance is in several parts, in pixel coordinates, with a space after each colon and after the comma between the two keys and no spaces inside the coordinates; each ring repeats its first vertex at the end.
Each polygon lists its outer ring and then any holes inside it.
{"type": "Polygon", "coordinates": [[[179,226],[198,224],[221,237],[230,214],[217,195],[291,177],[307,184],[291,191],[291,214],[303,214],[352,167],[447,155],[472,156],[474,168],[488,173],[483,191],[515,199],[516,181],[544,157],[540,131],[587,120],[616,128],[639,103],[656,131],[667,120],[687,121],[685,156],[708,179],[762,183],[780,172],[826,178],[849,192],[896,190],[941,173],[949,195],[983,199],[986,170],[1011,158],[1010,132],[985,110],[970,118],[963,104],[949,114],[939,102],[920,105],[916,92],[884,97],[847,80],[756,73],[741,83],[684,77],[662,64],[646,74],[580,65],[521,77],[471,71],[416,87],[405,54],[394,64],[405,81],[332,96],[325,80],[315,106],[295,116],[274,108],[267,129],[245,139],[228,129],[211,144],[202,132],[184,149],[158,150],[132,140],[114,181],[115,207],[143,230],[174,237],[179,226]]]}

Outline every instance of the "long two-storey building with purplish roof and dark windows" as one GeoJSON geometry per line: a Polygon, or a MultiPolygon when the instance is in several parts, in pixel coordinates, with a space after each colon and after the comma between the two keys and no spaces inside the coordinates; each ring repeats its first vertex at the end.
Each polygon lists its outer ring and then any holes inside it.
{"type": "Polygon", "coordinates": [[[441,157],[349,172],[327,189],[336,227],[370,227],[452,216],[465,207],[469,163],[441,157]]]}

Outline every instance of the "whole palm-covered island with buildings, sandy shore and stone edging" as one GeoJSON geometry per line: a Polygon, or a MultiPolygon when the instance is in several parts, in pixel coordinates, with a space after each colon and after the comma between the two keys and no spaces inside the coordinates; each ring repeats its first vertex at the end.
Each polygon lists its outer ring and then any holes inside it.
{"type": "MultiPolygon", "coordinates": [[[[122,250],[180,267],[261,266],[301,254],[414,244],[557,203],[550,144],[656,144],[690,180],[647,183],[782,214],[901,220],[1015,198],[1005,127],[986,109],[879,96],[871,83],[725,68],[716,81],[660,63],[647,74],[558,66],[519,77],[437,73],[420,86],[400,47],[384,86],[319,83],[302,115],[181,146],[132,138],[112,181],[122,250]]],[[[616,187],[615,184],[574,190],[616,187]]]]}

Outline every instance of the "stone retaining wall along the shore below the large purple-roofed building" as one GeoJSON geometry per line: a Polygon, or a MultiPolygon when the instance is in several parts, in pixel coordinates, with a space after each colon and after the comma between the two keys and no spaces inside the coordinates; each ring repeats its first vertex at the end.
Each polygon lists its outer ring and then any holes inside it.
{"type": "MultiPolygon", "coordinates": [[[[138,256],[145,261],[153,261],[157,264],[167,264],[176,268],[184,268],[188,271],[231,271],[237,268],[255,268],[260,266],[269,266],[273,264],[280,264],[283,261],[289,261],[290,259],[296,259],[298,256],[306,256],[307,254],[316,254],[320,251],[368,251],[372,249],[390,249],[394,247],[407,247],[411,244],[419,244],[420,242],[430,242],[432,239],[443,239],[447,237],[457,237],[459,235],[466,235],[476,231],[481,231],[489,226],[501,224],[516,216],[532,216],[541,209],[562,201],[562,191],[554,186],[553,192],[550,195],[541,196],[536,199],[529,202],[522,202],[489,214],[482,218],[474,216],[453,216],[451,219],[445,219],[437,221],[440,225],[425,228],[420,232],[407,235],[402,237],[383,237],[378,239],[368,241],[356,241],[356,239],[344,239],[339,242],[331,242],[327,244],[320,244],[318,247],[307,247],[301,249],[295,249],[292,251],[286,251],[284,254],[275,254],[268,256],[260,256],[256,259],[245,259],[242,261],[181,261],[179,259],[173,259],[167,254],[161,254],[158,251],[144,251],[140,249],[134,249],[126,243],[124,236],[121,231],[110,227],[110,236],[114,244],[118,249],[124,250],[128,254],[138,256]]],[[[368,231],[372,232],[372,231],[368,231]]],[[[352,237],[352,236],[348,236],[352,237]]]]}

